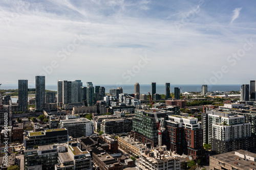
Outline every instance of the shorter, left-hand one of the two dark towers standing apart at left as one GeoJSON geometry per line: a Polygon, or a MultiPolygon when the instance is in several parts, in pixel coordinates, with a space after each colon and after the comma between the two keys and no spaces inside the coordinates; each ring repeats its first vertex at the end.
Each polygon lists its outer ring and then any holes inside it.
{"type": "Polygon", "coordinates": [[[28,80],[18,80],[18,110],[28,111],[28,80]]]}

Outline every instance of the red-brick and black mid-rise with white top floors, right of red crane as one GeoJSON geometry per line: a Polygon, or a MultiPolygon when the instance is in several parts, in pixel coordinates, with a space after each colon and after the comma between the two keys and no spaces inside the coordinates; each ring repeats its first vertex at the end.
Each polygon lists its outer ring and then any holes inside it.
{"type": "Polygon", "coordinates": [[[166,135],[164,142],[170,151],[178,154],[191,155],[202,158],[203,149],[203,130],[197,122],[197,118],[178,115],[168,116],[166,120],[166,135]]]}

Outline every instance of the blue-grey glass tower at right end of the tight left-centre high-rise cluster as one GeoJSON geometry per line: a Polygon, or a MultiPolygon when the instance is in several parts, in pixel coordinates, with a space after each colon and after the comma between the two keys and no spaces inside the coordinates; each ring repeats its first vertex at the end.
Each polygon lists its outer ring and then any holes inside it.
{"type": "Polygon", "coordinates": [[[71,103],[81,102],[81,80],[75,80],[71,83],[71,103]]]}

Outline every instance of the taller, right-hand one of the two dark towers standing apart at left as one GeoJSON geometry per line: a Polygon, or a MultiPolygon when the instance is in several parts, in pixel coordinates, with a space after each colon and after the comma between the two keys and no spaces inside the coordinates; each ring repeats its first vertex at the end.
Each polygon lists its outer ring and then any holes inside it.
{"type": "Polygon", "coordinates": [[[45,106],[46,77],[35,77],[35,110],[42,111],[45,106]]]}

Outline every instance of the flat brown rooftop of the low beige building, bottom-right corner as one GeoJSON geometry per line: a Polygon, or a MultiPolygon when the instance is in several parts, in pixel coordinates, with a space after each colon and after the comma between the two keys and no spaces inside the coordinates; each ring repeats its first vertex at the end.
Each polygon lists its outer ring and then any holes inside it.
{"type": "Polygon", "coordinates": [[[256,168],[256,165],[251,164],[251,163],[255,163],[254,161],[251,161],[251,160],[245,161],[243,158],[239,157],[238,155],[235,155],[234,152],[239,152],[240,154],[248,154],[248,155],[250,154],[250,155],[254,155],[253,157],[256,157],[255,154],[248,152],[248,151],[243,151],[243,150],[232,151],[232,152],[219,154],[219,155],[213,155],[210,157],[216,158],[220,162],[228,163],[232,166],[241,167],[243,169],[250,169],[250,168],[255,169],[256,168]],[[239,160],[237,158],[239,158],[239,160]],[[234,162],[236,162],[238,164],[235,164],[234,162]]]}

